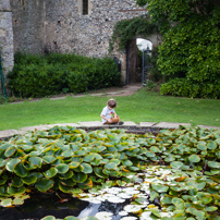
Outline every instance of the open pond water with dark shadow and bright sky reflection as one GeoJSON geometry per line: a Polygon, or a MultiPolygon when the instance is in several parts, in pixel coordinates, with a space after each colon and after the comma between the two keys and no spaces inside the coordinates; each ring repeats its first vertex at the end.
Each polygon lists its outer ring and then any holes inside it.
{"type": "Polygon", "coordinates": [[[130,204],[129,199],[121,204],[107,200],[101,204],[91,204],[64,194],[60,196],[64,198],[63,203],[54,194],[33,194],[22,206],[1,209],[0,220],[39,220],[46,216],[61,219],[66,216],[84,218],[95,216],[100,211],[112,212],[112,220],[120,220],[122,216],[119,212],[123,210],[125,205],[130,204]]]}

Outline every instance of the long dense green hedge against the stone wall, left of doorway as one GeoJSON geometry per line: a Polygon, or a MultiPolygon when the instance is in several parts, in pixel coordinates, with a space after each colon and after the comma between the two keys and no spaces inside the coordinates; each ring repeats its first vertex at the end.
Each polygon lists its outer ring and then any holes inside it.
{"type": "Polygon", "coordinates": [[[9,87],[20,97],[78,94],[120,84],[120,72],[111,58],[61,53],[44,57],[16,53],[8,77],[9,87]]]}

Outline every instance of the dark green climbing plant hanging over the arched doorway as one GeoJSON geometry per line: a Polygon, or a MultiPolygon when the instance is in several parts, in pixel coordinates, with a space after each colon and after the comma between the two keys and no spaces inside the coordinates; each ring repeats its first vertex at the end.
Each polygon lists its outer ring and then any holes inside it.
{"type": "Polygon", "coordinates": [[[137,35],[143,35],[144,37],[154,32],[157,32],[157,27],[149,22],[147,16],[120,21],[113,27],[109,50],[113,50],[115,42],[119,46],[119,50],[124,49],[129,41],[137,35]]]}

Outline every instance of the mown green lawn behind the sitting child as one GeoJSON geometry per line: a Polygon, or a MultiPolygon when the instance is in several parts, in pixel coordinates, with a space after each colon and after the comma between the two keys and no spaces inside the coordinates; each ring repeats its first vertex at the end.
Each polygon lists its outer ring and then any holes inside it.
{"type": "MultiPolygon", "coordinates": [[[[220,100],[160,96],[144,88],[132,96],[112,97],[122,121],[181,122],[220,126],[220,100]]],[[[100,121],[109,97],[66,97],[60,100],[0,105],[0,131],[39,124],[100,121]]]]}

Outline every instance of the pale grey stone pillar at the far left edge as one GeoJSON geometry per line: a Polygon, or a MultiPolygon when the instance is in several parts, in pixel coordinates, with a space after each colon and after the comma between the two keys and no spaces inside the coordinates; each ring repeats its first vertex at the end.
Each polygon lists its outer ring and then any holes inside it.
{"type": "Polygon", "coordinates": [[[3,73],[7,75],[14,65],[12,12],[10,0],[0,1],[0,50],[3,73]]]}

